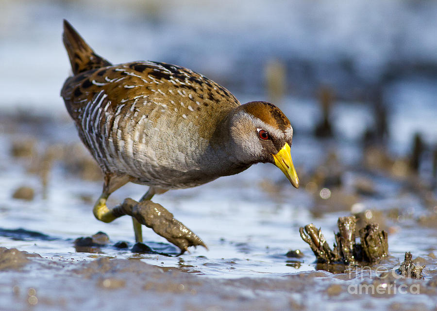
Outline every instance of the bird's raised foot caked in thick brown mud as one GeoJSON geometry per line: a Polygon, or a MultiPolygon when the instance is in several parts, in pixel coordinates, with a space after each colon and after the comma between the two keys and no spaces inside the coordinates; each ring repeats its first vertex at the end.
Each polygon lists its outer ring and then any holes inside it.
{"type": "Polygon", "coordinates": [[[173,217],[167,209],[151,201],[136,202],[125,199],[119,206],[126,215],[134,217],[139,223],[151,228],[181,249],[183,254],[190,246],[203,246],[202,239],[173,217]]]}

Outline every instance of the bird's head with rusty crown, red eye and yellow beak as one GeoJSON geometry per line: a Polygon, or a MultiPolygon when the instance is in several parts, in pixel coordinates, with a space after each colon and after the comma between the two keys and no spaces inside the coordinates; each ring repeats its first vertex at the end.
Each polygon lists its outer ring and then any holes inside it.
{"type": "Polygon", "coordinates": [[[299,187],[290,156],[293,128],[279,108],[267,102],[246,103],[231,112],[227,126],[233,156],[240,163],[272,163],[299,187]]]}

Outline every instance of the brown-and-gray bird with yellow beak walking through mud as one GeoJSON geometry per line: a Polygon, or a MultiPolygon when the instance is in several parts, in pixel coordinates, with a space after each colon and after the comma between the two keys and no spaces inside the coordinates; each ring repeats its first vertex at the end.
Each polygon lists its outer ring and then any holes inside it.
{"type": "Polygon", "coordinates": [[[80,139],[103,172],[93,206],[103,222],[130,215],[135,241],[142,225],[181,249],[206,245],[173,218],[155,194],[197,187],[245,171],[256,163],[276,165],[298,188],[290,146],[293,128],[275,105],[241,105],[218,83],[165,62],[112,64],[64,19],[63,43],[72,75],[61,96],[80,139]],[[111,193],[127,183],[149,186],[136,202],[109,208],[111,193]]]}

